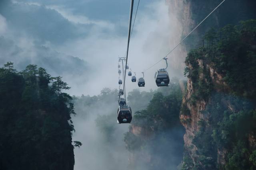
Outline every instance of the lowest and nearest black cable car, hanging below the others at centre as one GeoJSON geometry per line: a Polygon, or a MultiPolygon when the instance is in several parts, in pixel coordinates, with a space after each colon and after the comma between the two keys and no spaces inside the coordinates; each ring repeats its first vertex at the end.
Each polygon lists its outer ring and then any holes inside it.
{"type": "Polygon", "coordinates": [[[132,109],[130,106],[119,106],[117,110],[117,123],[131,123],[132,121],[132,109]]]}

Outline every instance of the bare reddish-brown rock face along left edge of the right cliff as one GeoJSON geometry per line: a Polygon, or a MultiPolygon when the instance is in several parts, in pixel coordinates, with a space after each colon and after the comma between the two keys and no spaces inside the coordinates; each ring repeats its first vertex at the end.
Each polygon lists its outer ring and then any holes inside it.
{"type": "MultiPolygon", "coordinates": [[[[204,60],[197,59],[196,64],[198,65],[199,69],[205,69],[206,72],[211,74],[210,79],[212,82],[215,82],[219,85],[223,84],[222,76],[216,74],[214,68],[211,68],[207,63],[205,63],[204,60]]],[[[190,70],[194,69],[190,63],[187,63],[187,66],[190,68],[190,70]]],[[[199,80],[206,82],[209,81],[206,80],[204,73],[198,74],[197,81],[199,80]]],[[[203,113],[209,101],[201,99],[191,102],[193,100],[193,96],[198,91],[198,89],[194,87],[194,84],[198,83],[197,81],[193,82],[192,78],[188,78],[186,95],[182,100],[182,107],[186,108],[187,110],[184,111],[183,109],[180,114],[180,121],[186,129],[186,133],[184,135],[184,153],[185,156],[189,156],[192,159],[193,165],[203,164],[203,162],[198,161],[200,155],[198,155],[197,153],[198,148],[196,144],[193,143],[196,134],[200,131],[201,128],[200,121],[204,121],[206,124],[208,124],[208,127],[210,128],[210,124],[208,122],[210,115],[203,113]]],[[[218,155],[224,157],[224,153],[222,152],[222,150],[218,150],[218,155]]],[[[222,161],[222,163],[225,163],[224,160],[222,161]]],[[[185,169],[186,168],[188,169],[189,167],[185,167],[185,169]]]]}

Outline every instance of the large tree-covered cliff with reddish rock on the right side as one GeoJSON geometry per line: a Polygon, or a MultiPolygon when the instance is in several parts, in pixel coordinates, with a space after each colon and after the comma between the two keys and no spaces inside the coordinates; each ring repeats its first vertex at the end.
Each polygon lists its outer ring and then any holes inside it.
{"type": "Polygon", "coordinates": [[[254,170],[256,20],[210,29],[186,65],[183,169],[254,170]]]}

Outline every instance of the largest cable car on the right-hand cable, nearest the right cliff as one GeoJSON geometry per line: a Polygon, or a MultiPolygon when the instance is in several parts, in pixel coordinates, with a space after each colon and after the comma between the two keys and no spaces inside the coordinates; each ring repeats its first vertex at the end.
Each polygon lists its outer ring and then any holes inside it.
{"type": "Polygon", "coordinates": [[[155,73],[156,86],[169,86],[170,78],[166,69],[157,70],[155,73]]]}

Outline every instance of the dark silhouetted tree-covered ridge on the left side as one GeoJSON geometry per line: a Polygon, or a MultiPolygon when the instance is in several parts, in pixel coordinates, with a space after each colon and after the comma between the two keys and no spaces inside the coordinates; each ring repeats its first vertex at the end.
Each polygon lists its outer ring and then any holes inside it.
{"type": "Polygon", "coordinates": [[[73,170],[75,114],[62,77],[28,65],[0,68],[0,169],[73,170]]]}

